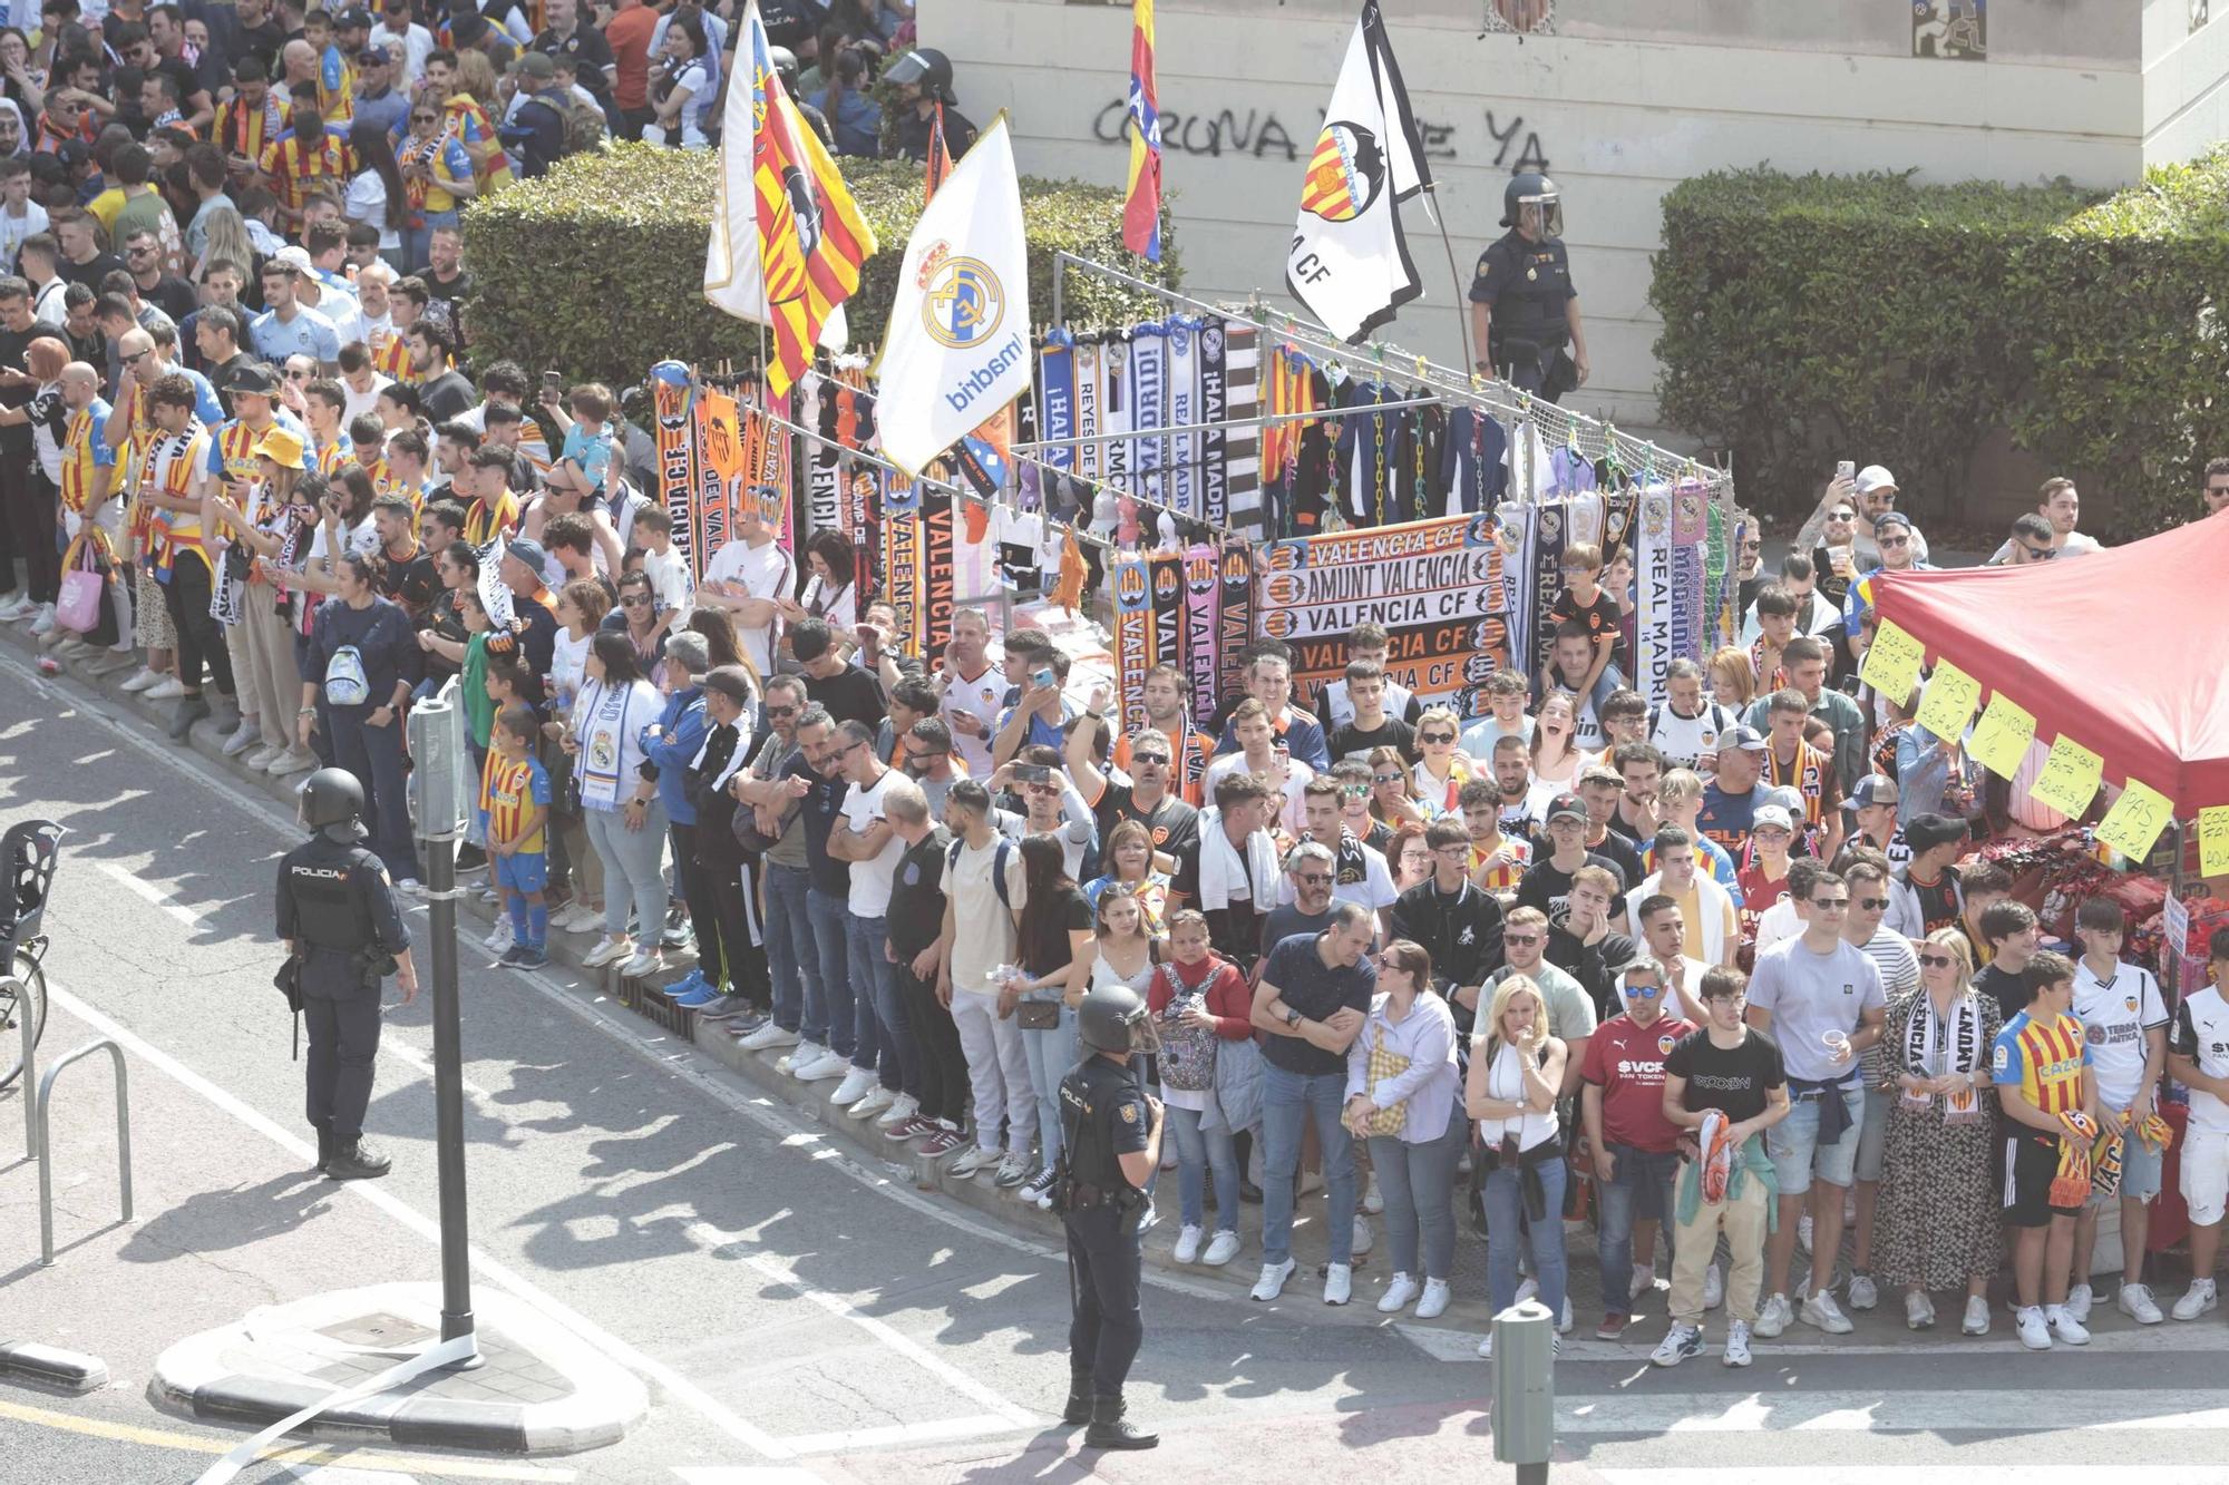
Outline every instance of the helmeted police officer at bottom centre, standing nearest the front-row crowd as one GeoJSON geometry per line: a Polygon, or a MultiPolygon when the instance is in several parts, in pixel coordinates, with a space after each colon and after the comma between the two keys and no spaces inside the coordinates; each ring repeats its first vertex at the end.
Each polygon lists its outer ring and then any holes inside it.
{"type": "Polygon", "coordinates": [[[1068,1224],[1068,1407],[1090,1423],[1086,1449],[1150,1449],[1123,1418],[1121,1385],[1146,1338],[1137,1291],[1146,1182],[1161,1164],[1161,1104],[1139,1093],[1130,1057],[1146,1048],[1146,999],[1110,986],[1077,1010],[1083,1061],[1061,1079],[1061,1173],[1057,1206],[1068,1224]]]}

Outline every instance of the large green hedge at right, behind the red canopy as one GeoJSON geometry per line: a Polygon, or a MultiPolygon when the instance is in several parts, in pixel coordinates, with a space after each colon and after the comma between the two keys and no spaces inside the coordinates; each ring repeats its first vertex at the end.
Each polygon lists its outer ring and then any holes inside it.
{"type": "Polygon", "coordinates": [[[2002,426],[2135,535],[2229,453],[2229,152],[2115,196],[1723,172],[1663,212],[1663,412],[1734,455],[1745,504],[1808,513],[1834,459],[1879,459],[1955,524],[2002,426]]]}

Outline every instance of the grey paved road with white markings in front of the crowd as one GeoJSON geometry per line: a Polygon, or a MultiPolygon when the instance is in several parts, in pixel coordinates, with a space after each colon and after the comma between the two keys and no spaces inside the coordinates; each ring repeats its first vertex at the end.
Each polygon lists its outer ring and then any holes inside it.
{"type": "MultiPolygon", "coordinates": [[[[187,1481],[236,1434],[158,1414],[154,1356],[259,1304],[437,1278],[426,1010],[397,1010],[370,1126],[395,1175],[305,1177],[299,1068],[270,970],[267,892],[296,838],[267,800],[152,740],[0,649],[0,827],[69,825],[49,932],[49,1055],[94,1035],[132,1052],[138,1209],[114,1226],[107,1095],[94,1068],[58,1115],[56,1269],[36,1266],[36,1173],[20,1101],[0,1095],[0,1340],[103,1356],[91,1398],[0,1389],[0,1481],[187,1481]]],[[[424,919],[419,919],[421,923],[424,919]]],[[[1135,1407],[1159,1454],[1092,1460],[1052,1427],[1065,1385],[1065,1275],[999,1231],[838,1153],[687,1046],[658,1039],[571,977],[499,974],[466,950],[466,1133],[477,1282],[557,1318],[635,1369],[653,1414],[626,1443],[553,1460],[312,1445],[247,1478],[325,1485],[593,1481],[1288,1481],[1493,1472],[1471,1338],[1148,1291],[1135,1407]]],[[[1364,1293],[1371,1284],[1362,1287],[1364,1293]]],[[[1357,1295],[1362,1298],[1362,1295],[1357,1295]]],[[[1638,1327],[1649,1340],[1661,1320],[1638,1327]]],[[[2147,1481],[2222,1478],[2229,1331],[2100,1324],[2089,1353],[2031,1358],[1872,1322],[1808,1331],[1730,1374],[1663,1374],[1645,1347],[1574,1347],[1558,1374],[1565,1478],[1748,1485],[1986,1485],[2035,1465],[2115,1465],[2147,1481]],[[2048,1431],[2048,1440],[2037,1440],[2048,1431]],[[1707,1472],[1707,1476],[1703,1474],[1707,1472]]],[[[2071,1476],[2069,1476],[2071,1478],[2071,1476]]]]}

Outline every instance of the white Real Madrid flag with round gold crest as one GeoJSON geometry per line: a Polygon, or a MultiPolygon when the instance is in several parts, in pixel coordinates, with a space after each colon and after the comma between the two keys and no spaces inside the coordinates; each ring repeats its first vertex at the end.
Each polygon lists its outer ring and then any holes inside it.
{"type": "Polygon", "coordinates": [[[1001,114],[914,223],[876,375],[883,457],[909,475],[1030,390],[1030,250],[1001,114]]]}

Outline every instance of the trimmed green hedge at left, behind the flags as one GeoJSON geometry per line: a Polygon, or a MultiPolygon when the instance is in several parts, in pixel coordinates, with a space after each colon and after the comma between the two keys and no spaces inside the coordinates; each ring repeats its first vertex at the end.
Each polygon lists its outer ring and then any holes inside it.
{"type": "MultiPolygon", "coordinates": [[[[1110,156],[1112,158],[1112,156],[1110,156]]],[[[921,167],[909,161],[843,161],[860,212],[880,241],[849,301],[851,348],[883,343],[905,239],[921,216],[921,167]]],[[[464,214],[473,268],[473,359],[510,357],[629,386],[666,357],[709,366],[756,359],[758,326],[704,303],[704,241],[718,198],[718,156],[613,145],[564,161],[539,181],[473,203],[464,214]]],[[[1052,254],[1126,270],[1150,268],[1121,245],[1121,190],[1023,178],[1030,223],[1030,310],[1052,319],[1052,254]]],[[[1161,221],[1161,268],[1139,276],[1177,283],[1177,252],[1161,221]]],[[[1148,297],[1081,274],[1068,276],[1070,319],[1112,323],[1148,312],[1148,297]]]]}

